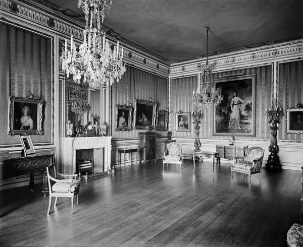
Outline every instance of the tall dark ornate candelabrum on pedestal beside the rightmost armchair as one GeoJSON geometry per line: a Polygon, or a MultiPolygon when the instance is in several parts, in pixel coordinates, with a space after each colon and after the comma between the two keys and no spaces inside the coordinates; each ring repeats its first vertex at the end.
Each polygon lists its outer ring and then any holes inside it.
{"type": "Polygon", "coordinates": [[[271,123],[271,142],[268,148],[270,155],[268,156],[266,168],[281,168],[278,156],[279,147],[277,144],[277,123],[279,122],[279,118],[282,116],[281,107],[278,107],[276,102],[273,103],[271,107],[266,109],[266,115],[270,119],[269,122],[271,123]]]}

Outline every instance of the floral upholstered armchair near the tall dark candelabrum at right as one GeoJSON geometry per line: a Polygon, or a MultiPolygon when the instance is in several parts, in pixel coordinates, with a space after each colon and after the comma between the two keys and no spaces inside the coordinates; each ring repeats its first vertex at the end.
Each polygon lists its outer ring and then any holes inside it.
{"type": "Polygon", "coordinates": [[[251,181],[251,175],[255,173],[262,173],[262,161],[264,156],[264,150],[259,147],[250,147],[247,149],[246,156],[236,157],[236,162],[231,166],[231,177],[233,172],[240,172],[249,175],[249,182],[251,181]]]}

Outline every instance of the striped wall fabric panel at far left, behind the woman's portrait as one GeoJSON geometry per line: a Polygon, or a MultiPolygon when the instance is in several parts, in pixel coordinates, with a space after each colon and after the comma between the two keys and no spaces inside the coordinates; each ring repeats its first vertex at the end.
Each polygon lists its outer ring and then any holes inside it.
{"type": "Polygon", "coordinates": [[[32,135],[33,143],[53,142],[52,39],[0,22],[1,133],[0,145],[21,145],[18,135],[8,135],[9,95],[43,99],[44,135],[32,135]]]}

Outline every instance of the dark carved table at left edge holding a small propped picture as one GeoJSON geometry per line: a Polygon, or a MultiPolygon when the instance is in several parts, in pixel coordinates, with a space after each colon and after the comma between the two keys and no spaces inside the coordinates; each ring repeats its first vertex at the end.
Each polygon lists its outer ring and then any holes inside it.
{"type": "Polygon", "coordinates": [[[22,157],[20,153],[10,153],[9,157],[0,158],[0,186],[7,178],[29,174],[30,190],[34,190],[35,172],[41,172],[43,177],[42,193],[48,195],[46,167],[55,162],[55,150],[36,151],[35,154],[22,157]]]}

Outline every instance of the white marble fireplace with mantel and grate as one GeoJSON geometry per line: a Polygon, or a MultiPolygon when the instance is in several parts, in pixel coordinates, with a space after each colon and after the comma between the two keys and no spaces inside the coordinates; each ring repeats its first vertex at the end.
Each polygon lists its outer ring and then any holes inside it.
{"type": "MultiPolygon", "coordinates": [[[[87,165],[82,163],[83,168],[89,170],[90,160],[93,162],[94,172],[107,171],[111,164],[111,139],[112,137],[63,138],[64,172],[69,174],[78,173],[79,162],[85,161],[87,161],[87,165]]],[[[81,174],[83,173],[81,172],[81,174]]]]}

